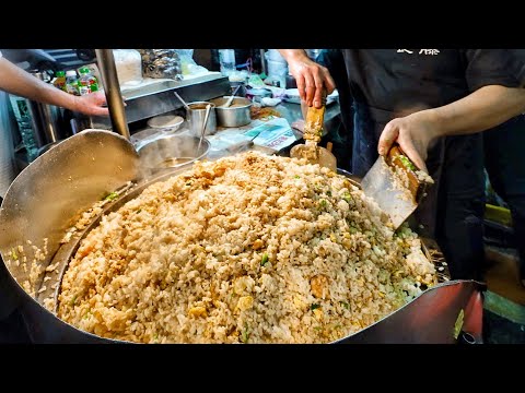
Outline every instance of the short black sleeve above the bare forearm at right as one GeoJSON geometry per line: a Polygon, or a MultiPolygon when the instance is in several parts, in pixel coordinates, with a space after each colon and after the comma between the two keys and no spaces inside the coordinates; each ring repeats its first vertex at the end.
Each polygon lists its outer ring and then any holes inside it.
{"type": "Polygon", "coordinates": [[[517,49],[464,49],[466,79],[471,92],[487,85],[523,87],[525,51],[517,49]]]}

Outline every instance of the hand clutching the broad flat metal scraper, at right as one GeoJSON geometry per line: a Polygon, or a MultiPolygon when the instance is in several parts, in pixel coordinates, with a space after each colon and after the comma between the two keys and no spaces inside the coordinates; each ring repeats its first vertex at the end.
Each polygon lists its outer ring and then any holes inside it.
{"type": "Polygon", "coordinates": [[[439,126],[430,110],[422,110],[389,121],[380,138],[377,151],[381,155],[397,142],[416,166],[428,172],[424,160],[430,144],[439,135],[439,126]]]}

